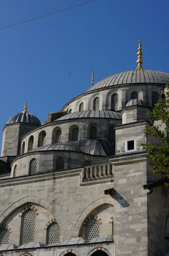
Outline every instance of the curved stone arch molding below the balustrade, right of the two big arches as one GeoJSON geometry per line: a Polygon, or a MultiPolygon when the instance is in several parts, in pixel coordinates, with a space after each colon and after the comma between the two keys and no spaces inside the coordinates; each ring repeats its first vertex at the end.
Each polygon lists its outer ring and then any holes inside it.
{"type": "Polygon", "coordinates": [[[110,197],[99,198],[98,200],[96,200],[92,204],[90,204],[79,216],[79,218],[75,224],[75,227],[80,228],[82,226],[82,223],[87,218],[87,216],[90,215],[90,213],[93,212],[97,207],[100,207],[103,204],[113,205],[113,198],[110,198],[110,197]]]}

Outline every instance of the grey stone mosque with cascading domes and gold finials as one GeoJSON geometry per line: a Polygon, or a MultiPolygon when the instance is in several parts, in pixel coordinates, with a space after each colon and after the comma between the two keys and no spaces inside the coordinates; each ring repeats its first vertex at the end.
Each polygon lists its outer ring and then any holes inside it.
{"type": "MultiPolygon", "coordinates": [[[[169,192],[141,142],[169,74],[109,76],[45,122],[24,111],[3,128],[0,256],[169,255],[169,192]]],[[[155,122],[161,130],[165,127],[155,122]]]]}

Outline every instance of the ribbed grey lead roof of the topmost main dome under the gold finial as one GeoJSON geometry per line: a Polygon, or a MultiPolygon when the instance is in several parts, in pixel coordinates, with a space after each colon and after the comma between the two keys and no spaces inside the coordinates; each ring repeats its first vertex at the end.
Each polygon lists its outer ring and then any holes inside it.
{"type": "Polygon", "coordinates": [[[154,70],[129,70],[109,76],[90,87],[87,92],[118,84],[169,84],[169,74],[154,70]]]}

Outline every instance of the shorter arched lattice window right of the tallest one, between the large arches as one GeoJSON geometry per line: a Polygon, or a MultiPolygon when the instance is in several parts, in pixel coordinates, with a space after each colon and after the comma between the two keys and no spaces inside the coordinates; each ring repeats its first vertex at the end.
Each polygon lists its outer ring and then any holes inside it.
{"type": "Polygon", "coordinates": [[[48,245],[60,243],[60,228],[56,222],[51,223],[47,228],[46,243],[48,245]]]}

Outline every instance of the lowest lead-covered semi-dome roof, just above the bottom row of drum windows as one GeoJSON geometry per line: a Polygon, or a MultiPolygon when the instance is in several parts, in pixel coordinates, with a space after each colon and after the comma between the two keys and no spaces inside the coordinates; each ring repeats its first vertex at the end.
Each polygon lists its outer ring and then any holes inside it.
{"type": "Polygon", "coordinates": [[[52,145],[45,145],[45,146],[40,146],[37,148],[32,148],[29,152],[34,152],[34,151],[46,151],[46,150],[68,150],[68,151],[78,151],[78,148],[75,148],[70,145],[63,145],[62,143],[56,143],[52,145]]]}

